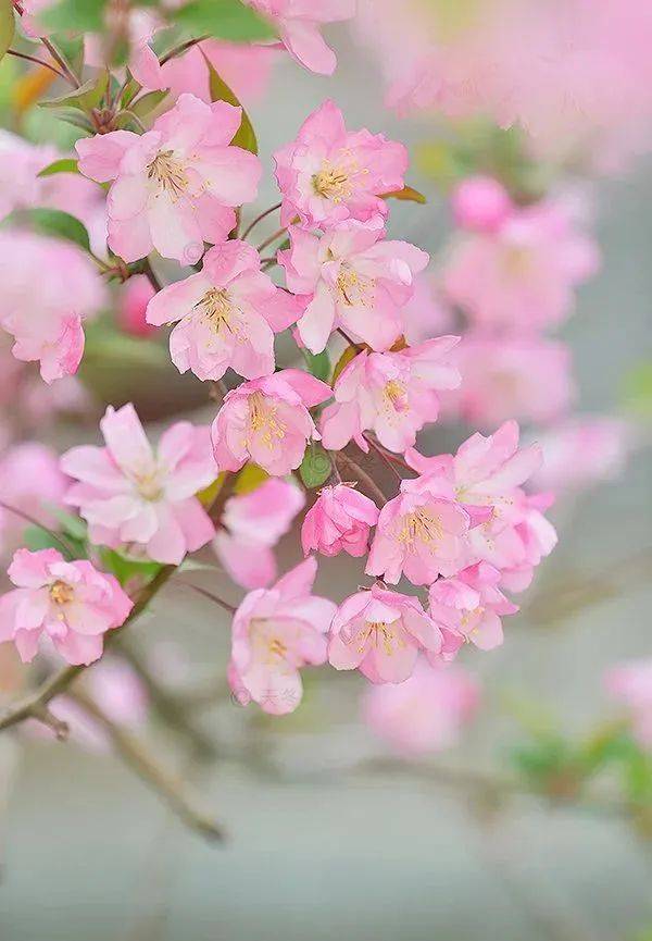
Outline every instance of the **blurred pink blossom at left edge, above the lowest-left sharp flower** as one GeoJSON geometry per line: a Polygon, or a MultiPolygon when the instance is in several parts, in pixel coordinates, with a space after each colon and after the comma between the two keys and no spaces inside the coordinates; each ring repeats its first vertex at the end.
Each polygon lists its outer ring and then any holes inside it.
{"type": "MultiPolygon", "coordinates": [[[[39,442],[21,442],[0,458],[0,494],[3,504],[34,517],[45,525],[53,522],[51,505],[61,504],[68,481],[59,468],[59,455],[39,442]]],[[[25,520],[0,507],[0,542],[15,547],[25,520]]]]}

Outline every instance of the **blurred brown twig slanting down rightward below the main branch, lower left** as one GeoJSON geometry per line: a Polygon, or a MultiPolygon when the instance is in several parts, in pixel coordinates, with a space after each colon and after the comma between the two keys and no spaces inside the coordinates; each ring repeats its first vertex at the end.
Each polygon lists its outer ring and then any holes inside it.
{"type": "Polygon", "coordinates": [[[210,840],[224,840],[221,825],[197,807],[195,798],[186,792],[184,782],[166,768],[162,768],[142,742],[127,729],[113,722],[86,693],[76,690],[70,695],[102,726],[122,760],[165,801],[184,824],[210,840]]]}

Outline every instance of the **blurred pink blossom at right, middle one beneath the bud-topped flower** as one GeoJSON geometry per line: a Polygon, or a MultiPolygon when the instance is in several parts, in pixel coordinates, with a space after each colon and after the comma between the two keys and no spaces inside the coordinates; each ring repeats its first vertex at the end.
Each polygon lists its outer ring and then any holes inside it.
{"type": "Polygon", "coordinates": [[[553,421],[575,397],[570,351],[563,343],[474,332],[462,338],[453,363],[462,383],[442,397],[442,407],[472,425],[491,428],[511,418],[553,421]]]}

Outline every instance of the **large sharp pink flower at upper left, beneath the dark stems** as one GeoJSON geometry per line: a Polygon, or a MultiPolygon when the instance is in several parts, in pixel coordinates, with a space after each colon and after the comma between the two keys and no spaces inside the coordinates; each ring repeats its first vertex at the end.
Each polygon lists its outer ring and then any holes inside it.
{"type": "Polygon", "coordinates": [[[241,109],[181,95],[151,131],[112,131],[82,138],[79,170],[109,189],[109,245],[125,261],[152,249],[184,264],[197,262],[204,242],[226,239],[233,207],[255,198],[261,163],[230,147],[241,109]]]}

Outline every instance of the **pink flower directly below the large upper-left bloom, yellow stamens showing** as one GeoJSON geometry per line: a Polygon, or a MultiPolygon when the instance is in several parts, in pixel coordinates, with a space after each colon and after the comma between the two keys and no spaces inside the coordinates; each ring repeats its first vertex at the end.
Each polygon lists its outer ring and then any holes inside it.
{"type": "Polygon", "coordinates": [[[212,248],[203,268],[160,290],[149,302],[148,323],[180,321],[170,337],[179,372],[222,379],[231,367],[246,379],[274,372],[274,333],[297,320],[294,298],[260,270],[261,259],[244,242],[212,248]]]}

